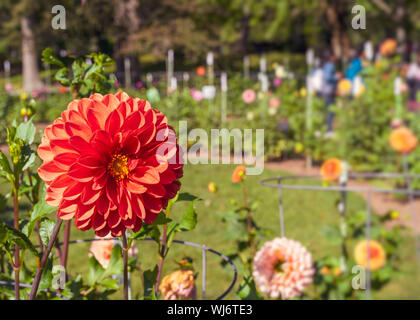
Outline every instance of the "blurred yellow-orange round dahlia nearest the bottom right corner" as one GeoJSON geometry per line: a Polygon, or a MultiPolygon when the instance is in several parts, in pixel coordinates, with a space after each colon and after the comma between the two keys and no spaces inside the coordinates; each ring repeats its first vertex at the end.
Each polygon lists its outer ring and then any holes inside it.
{"type": "MultiPolygon", "coordinates": [[[[354,248],[356,263],[367,268],[368,241],[360,241],[354,248]]],[[[386,252],[378,241],[369,240],[369,269],[377,270],[386,262],[386,252]]]]}

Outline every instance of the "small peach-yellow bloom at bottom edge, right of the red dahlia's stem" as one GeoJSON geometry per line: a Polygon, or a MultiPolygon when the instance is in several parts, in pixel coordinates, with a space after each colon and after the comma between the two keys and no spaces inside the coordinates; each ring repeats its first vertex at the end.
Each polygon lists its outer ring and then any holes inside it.
{"type": "Polygon", "coordinates": [[[177,270],[163,278],[159,286],[165,300],[196,300],[194,272],[177,270]]]}

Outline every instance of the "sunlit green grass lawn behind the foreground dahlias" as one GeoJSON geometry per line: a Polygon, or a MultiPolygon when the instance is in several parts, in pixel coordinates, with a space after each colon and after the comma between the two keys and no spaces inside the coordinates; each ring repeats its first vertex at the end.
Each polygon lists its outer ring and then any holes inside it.
{"type": "MultiPolygon", "coordinates": [[[[231,199],[242,201],[241,187],[231,182],[233,166],[229,165],[187,165],[185,175],[182,178],[182,192],[189,192],[199,196],[203,201],[196,204],[198,224],[196,229],[190,232],[179,233],[177,238],[199,244],[205,244],[221,253],[226,253],[235,247],[235,244],[226,237],[226,225],[220,221],[222,213],[220,198],[207,190],[207,184],[214,181],[219,192],[227,203],[231,199]]],[[[279,172],[264,170],[261,176],[248,176],[246,185],[249,198],[258,199],[258,207],[255,218],[260,226],[269,229],[270,235],[265,240],[280,235],[278,217],[278,195],[276,189],[262,187],[258,181],[264,178],[280,175],[279,172]]],[[[284,173],[283,173],[284,174],[284,173]]],[[[303,183],[303,180],[299,181],[303,183]]],[[[305,183],[319,183],[310,181],[305,183]]],[[[0,186],[0,192],[5,191],[5,186],[0,186]]],[[[322,233],[322,227],[338,223],[339,216],[336,209],[337,193],[325,191],[298,191],[284,190],[285,207],[285,234],[289,238],[302,242],[317,259],[326,254],[338,254],[339,248],[328,243],[322,233]]],[[[173,209],[172,215],[177,218],[182,214],[185,204],[179,203],[173,209]]],[[[364,200],[356,194],[349,195],[348,214],[365,208],[364,200]]],[[[22,214],[25,208],[22,208],[22,214]]],[[[0,218],[11,217],[12,208],[0,213],[0,218]]],[[[93,232],[81,232],[72,228],[72,239],[92,238],[93,232]]],[[[62,239],[62,236],[61,236],[62,239]]],[[[261,245],[261,244],[260,244],[261,245]]],[[[70,274],[88,271],[89,243],[74,244],[70,247],[68,269],[70,274]]],[[[158,261],[156,245],[148,241],[137,241],[139,249],[139,261],[143,270],[151,268],[158,261]]],[[[193,265],[198,272],[197,285],[199,297],[201,297],[202,282],[202,258],[201,251],[179,244],[174,244],[165,260],[163,275],[176,269],[176,260],[184,255],[193,258],[193,265]]],[[[380,292],[374,295],[376,299],[418,299],[420,298],[420,272],[417,264],[414,240],[407,236],[401,252],[403,265],[401,275],[395,277],[380,292]]],[[[230,266],[222,267],[220,258],[211,253],[207,254],[207,298],[214,299],[226,290],[232,281],[233,272],[230,266]]],[[[238,281],[241,277],[239,276],[238,281]]],[[[141,296],[141,281],[138,272],[132,274],[133,297],[141,296]]],[[[239,282],[227,298],[237,298],[235,291],[239,282]]],[[[113,295],[113,298],[122,298],[121,292],[113,295]]]]}

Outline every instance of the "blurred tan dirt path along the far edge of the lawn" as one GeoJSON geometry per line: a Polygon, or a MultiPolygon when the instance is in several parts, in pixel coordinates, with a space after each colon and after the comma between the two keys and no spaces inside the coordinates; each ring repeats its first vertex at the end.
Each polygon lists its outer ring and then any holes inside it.
{"type": "MultiPolygon", "coordinates": [[[[290,174],[300,176],[311,176],[319,174],[319,167],[307,169],[304,160],[286,160],[282,162],[267,162],[265,168],[273,171],[285,171],[290,174]]],[[[368,187],[371,184],[368,181],[349,181],[352,187],[368,187]]],[[[366,193],[360,192],[360,195],[366,199],[366,193]]],[[[413,227],[413,219],[410,212],[410,204],[408,201],[395,199],[391,194],[371,193],[372,209],[378,214],[385,214],[390,210],[396,210],[400,213],[398,222],[405,226],[413,227]]],[[[416,215],[417,229],[420,223],[420,199],[414,200],[413,210],[416,215]]]]}

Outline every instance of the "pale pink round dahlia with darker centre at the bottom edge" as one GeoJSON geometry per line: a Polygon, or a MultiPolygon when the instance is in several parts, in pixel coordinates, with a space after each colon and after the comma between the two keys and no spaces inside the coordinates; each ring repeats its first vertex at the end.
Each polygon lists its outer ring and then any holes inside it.
{"type": "Polygon", "coordinates": [[[284,237],[266,242],[254,257],[254,281],[273,299],[299,297],[312,283],[314,273],[308,250],[284,237]]]}

